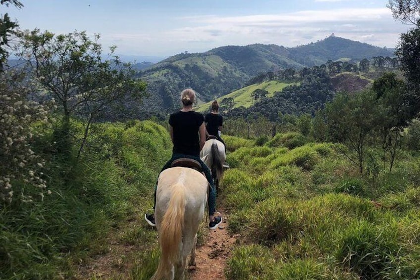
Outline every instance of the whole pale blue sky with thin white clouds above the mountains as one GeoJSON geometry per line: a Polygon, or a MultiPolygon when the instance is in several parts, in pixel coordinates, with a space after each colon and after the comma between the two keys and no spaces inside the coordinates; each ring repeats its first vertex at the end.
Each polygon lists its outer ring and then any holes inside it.
{"type": "Polygon", "coordinates": [[[393,48],[410,26],[387,0],[21,0],[2,7],[22,29],[101,34],[106,50],[142,56],[205,52],[254,43],[286,47],[330,34],[393,48]]]}

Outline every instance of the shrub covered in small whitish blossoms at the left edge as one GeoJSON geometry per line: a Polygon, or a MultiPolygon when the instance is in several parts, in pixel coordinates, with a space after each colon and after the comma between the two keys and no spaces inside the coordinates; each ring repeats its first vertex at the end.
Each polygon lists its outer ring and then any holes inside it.
{"type": "Polygon", "coordinates": [[[48,121],[47,106],[29,100],[33,88],[24,72],[1,72],[0,92],[0,201],[10,202],[14,192],[24,201],[42,199],[45,162],[31,144],[37,137],[33,125],[48,121]],[[12,185],[19,182],[38,188],[36,197],[14,191],[12,185]]]}

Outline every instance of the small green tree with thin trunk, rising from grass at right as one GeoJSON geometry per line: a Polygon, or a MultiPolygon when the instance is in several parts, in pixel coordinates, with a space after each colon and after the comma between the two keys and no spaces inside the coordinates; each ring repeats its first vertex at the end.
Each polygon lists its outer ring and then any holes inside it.
{"type": "Polygon", "coordinates": [[[338,94],[326,105],[324,113],[329,140],[343,143],[350,151],[356,152],[354,157],[337,146],[362,174],[368,141],[374,137],[374,131],[385,114],[375,95],[368,90],[354,96],[338,94]]]}

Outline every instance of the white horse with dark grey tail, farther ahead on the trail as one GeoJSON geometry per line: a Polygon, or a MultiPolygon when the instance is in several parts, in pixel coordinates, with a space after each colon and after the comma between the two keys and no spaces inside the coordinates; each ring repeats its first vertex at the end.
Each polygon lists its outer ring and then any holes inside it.
{"type": "Polygon", "coordinates": [[[200,158],[210,169],[214,184],[218,190],[223,179],[223,163],[226,160],[226,151],[223,143],[217,139],[207,140],[200,152],[200,158]]]}

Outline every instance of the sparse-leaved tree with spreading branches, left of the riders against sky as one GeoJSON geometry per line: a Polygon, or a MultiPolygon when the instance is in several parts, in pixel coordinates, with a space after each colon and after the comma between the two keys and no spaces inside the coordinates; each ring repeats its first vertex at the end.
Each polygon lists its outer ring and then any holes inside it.
{"type": "Polygon", "coordinates": [[[91,40],[85,32],[54,35],[35,29],[20,38],[17,56],[28,62],[39,90],[56,99],[62,114],[56,129],[62,151],[71,145],[71,117],[86,119],[80,156],[90,126],[101,112],[115,103],[140,101],[145,94],[146,84],[132,79],[131,65],[113,56],[116,47],[111,47],[111,60],[102,59],[99,35],[91,40]]]}

